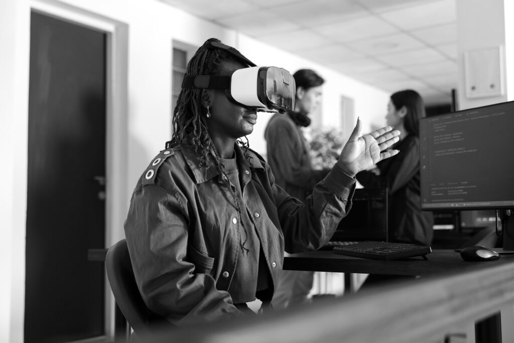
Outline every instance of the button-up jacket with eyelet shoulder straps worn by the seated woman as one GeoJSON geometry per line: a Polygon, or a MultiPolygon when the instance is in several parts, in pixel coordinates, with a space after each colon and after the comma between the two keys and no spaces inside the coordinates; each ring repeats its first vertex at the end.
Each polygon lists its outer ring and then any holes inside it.
{"type": "MultiPolygon", "coordinates": [[[[332,237],[350,210],[355,178],[336,166],[303,203],[275,184],[260,155],[238,145],[235,154],[241,208],[276,288],[284,250],[315,250],[332,237]]],[[[191,146],[176,145],[151,161],[132,195],[124,230],[136,283],[149,309],[178,325],[240,313],[228,290],[237,263],[245,263],[238,261],[245,234],[221,177],[213,164],[200,165],[191,146]]]]}

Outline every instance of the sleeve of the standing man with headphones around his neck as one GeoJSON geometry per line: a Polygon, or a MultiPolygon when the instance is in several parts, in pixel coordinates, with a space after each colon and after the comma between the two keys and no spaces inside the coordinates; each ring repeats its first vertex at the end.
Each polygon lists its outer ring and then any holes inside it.
{"type": "Polygon", "coordinates": [[[314,170],[299,163],[298,155],[302,152],[295,142],[303,137],[291,125],[284,120],[276,120],[267,130],[268,160],[273,170],[277,170],[288,184],[313,189],[328,174],[328,170],[314,170]]]}

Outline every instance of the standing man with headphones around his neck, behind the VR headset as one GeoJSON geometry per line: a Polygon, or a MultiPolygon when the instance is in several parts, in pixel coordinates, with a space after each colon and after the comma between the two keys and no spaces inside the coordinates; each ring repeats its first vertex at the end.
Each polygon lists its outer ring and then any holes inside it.
{"type": "MultiPolygon", "coordinates": [[[[267,160],[276,184],[303,201],[328,174],[328,170],[314,170],[311,166],[310,146],[302,132],[302,128],[310,124],[309,114],[321,103],[324,80],[310,69],[300,69],[293,77],[296,82],[295,111],[274,114],[268,122],[264,137],[267,160]]],[[[305,302],[313,286],[313,279],[314,272],[283,270],[273,297],[273,308],[281,309],[305,302]]]]}

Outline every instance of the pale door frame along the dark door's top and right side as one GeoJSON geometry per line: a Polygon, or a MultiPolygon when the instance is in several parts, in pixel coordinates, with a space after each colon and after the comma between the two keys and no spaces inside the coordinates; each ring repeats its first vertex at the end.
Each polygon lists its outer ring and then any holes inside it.
{"type": "MultiPolygon", "coordinates": [[[[124,238],[128,141],[128,25],[55,0],[30,0],[30,10],[106,34],[105,247],[124,238]]],[[[28,113],[27,113],[28,115],[28,113]]],[[[28,137],[27,137],[28,139],[28,137]]],[[[91,263],[99,263],[91,261],[91,263]]],[[[114,337],[115,301],[105,275],[105,333],[114,337]]]]}

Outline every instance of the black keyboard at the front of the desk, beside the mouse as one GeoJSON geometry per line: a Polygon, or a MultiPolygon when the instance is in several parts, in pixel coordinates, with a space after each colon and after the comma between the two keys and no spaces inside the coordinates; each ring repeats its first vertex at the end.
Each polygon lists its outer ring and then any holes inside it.
{"type": "Polygon", "coordinates": [[[335,254],[362,257],[373,260],[397,260],[407,257],[423,256],[430,254],[429,246],[365,241],[348,245],[335,246],[332,250],[335,254]]]}

